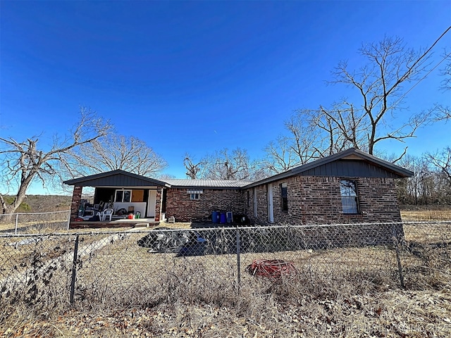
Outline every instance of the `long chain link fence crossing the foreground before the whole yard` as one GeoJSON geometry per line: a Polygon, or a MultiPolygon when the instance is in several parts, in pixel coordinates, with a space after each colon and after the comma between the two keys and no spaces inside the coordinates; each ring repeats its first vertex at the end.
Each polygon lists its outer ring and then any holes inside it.
{"type": "Polygon", "coordinates": [[[0,306],[227,304],[237,294],[443,289],[451,222],[0,234],[0,306]]]}

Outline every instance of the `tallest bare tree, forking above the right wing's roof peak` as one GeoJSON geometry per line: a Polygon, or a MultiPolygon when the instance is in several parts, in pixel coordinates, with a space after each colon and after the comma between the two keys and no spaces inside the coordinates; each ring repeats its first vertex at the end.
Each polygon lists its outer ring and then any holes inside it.
{"type": "Polygon", "coordinates": [[[378,142],[385,139],[402,142],[414,137],[416,129],[426,122],[428,116],[424,113],[411,113],[407,120],[404,116],[398,118],[406,95],[403,85],[421,80],[428,51],[419,53],[407,49],[400,38],[385,37],[377,44],[362,46],[359,52],[368,62],[359,70],[349,70],[347,62],[340,62],[330,83],[356,89],[360,102],[336,104],[332,110],[335,116],[326,113],[326,118],[354,147],[373,154],[378,142]]]}

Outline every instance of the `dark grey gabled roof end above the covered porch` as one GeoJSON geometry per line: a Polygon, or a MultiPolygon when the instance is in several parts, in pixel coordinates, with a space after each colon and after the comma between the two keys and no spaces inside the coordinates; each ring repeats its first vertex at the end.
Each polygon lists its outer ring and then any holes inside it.
{"type": "Polygon", "coordinates": [[[89,175],[75,178],[74,180],[64,181],[68,185],[79,187],[147,187],[160,186],[167,187],[168,184],[153,178],[128,173],[124,170],[112,170],[106,173],[89,175]]]}

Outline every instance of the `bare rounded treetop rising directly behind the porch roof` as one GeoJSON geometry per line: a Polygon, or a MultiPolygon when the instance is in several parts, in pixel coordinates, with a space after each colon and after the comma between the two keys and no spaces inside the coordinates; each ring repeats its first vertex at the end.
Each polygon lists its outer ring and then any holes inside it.
{"type": "Polygon", "coordinates": [[[143,176],[158,176],[166,161],[136,137],[109,133],[102,139],[83,144],[64,156],[66,173],[92,175],[121,169],[143,176]]]}

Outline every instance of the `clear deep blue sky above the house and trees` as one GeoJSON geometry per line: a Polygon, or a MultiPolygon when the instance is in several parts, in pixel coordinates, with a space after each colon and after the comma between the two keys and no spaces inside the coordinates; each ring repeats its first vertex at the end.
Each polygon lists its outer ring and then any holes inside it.
{"type": "MultiPolygon", "coordinates": [[[[50,144],[79,106],[109,118],[184,178],[197,159],[240,146],[252,158],[299,108],[348,96],[326,86],[340,60],[384,35],[430,46],[451,24],[450,1],[0,1],[0,134],[50,144]]],[[[451,32],[432,61],[451,49],[451,32]]],[[[407,96],[416,112],[451,104],[436,69],[407,96]]],[[[451,142],[450,123],[424,127],[409,154],[451,142]]],[[[388,154],[402,144],[381,144],[388,154]]],[[[30,193],[47,193],[35,184],[30,193]]]]}

